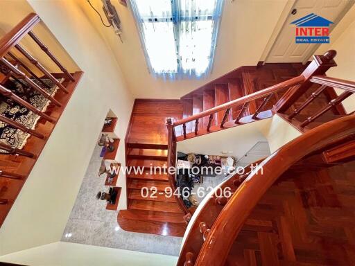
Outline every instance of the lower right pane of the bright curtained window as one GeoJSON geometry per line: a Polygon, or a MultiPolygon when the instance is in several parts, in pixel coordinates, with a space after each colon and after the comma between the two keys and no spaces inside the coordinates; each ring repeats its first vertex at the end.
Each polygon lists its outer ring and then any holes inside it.
{"type": "Polygon", "coordinates": [[[184,72],[202,74],[209,67],[214,21],[182,21],[180,25],[180,60],[184,72]]]}

